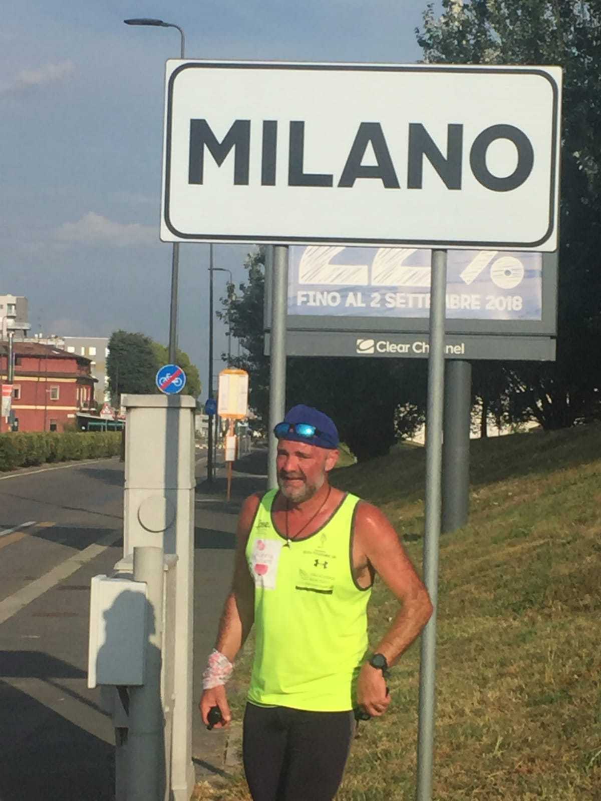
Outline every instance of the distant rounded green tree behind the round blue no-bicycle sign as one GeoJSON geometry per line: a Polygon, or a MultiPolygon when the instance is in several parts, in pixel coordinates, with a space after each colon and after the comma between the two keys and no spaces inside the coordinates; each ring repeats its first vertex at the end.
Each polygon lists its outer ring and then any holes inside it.
{"type": "MultiPolygon", "coordinates": [[[[156,372],[168,363],[167,348],[151,340],[150,336],[128,331],[115,331],[108,343],[107,376],[114,405],[119,404],[123,393],[153,394],[156,387],[156,372]]],[[[200,395],[198,368],[191,364],[184,351],[177,352],[178,364],[187,376],[184,395],[200,395]]]]}

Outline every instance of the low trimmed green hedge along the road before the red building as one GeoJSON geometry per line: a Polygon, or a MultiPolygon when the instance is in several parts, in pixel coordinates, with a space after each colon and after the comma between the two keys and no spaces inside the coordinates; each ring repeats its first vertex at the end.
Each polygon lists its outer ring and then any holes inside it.
{"type": "Polygon", "coordinates": [[[51,461],[76,461],[118,456],[119,431],[39,432],[0,434],[0,472],[51,461]]]}

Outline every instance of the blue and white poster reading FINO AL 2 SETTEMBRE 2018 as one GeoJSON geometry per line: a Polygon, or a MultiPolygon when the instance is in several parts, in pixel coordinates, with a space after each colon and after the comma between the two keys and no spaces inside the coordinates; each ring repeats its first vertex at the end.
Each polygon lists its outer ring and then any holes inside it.
{"type": "MultiPolygon", "coordinates": [[[[430,250],[290,248],[288,314],[427,319],[430,250]]],[[[450,251],[447,320],[541,320],[543,256],[450,251]]]]}

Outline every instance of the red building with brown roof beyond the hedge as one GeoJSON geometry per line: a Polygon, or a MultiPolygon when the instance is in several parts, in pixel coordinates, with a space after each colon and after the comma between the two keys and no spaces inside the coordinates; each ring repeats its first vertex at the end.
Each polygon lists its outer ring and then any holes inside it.
{"type": "MultiPolygon", "coordinates": [[[[12,409],[18,431],[63,431],[94,403],[90,360],[51,345],[14,341],[12,409]]],[[[0,384],[8,376],[8,343],[0,342],[0,384]]],[[[8,424],[0,417],[0,431],[8,424]]]]}

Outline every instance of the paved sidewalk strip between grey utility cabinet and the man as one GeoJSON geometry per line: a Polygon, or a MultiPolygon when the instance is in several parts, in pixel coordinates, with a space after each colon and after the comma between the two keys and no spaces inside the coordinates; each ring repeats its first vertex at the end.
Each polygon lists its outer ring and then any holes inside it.
{"type": "Polygon", "coordinates": [[[232,582],[236,547],[236,521],[244,498],[264,491],[267,481],[267,449],[256,449],[234,463],[232,499],[226,501],[227,480],[220,465],[216,480],[206,481],[200,467],[196,486],[195,600],[194,600],[194,698],[192,756],[196,781],[228,775],[226,765],[236,760],[240,721],[228,731],[207,731],[197,704],[202,694],[202,674],[215,643],[221,610],[232,582]],[[228,747],[229,746],[229,747],[228,747]]]}

